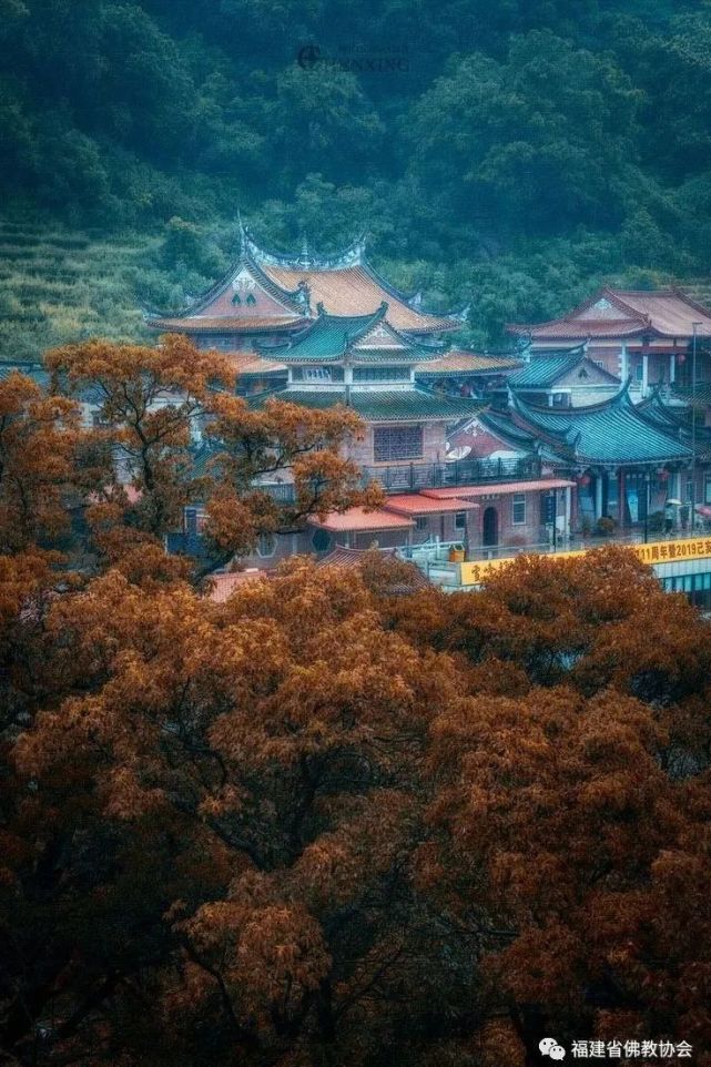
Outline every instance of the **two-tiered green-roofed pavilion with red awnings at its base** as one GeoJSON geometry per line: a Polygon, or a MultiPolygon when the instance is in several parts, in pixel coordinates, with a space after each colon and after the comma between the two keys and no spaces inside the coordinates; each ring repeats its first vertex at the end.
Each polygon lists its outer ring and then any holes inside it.
{"type": "MultiPolygon", "coordinates": [[[[397,507],[388,500],[387,514],[354,508],[315,522],[322,531],[346,535],[342,543],[352,548],[367,547],[374,538],[402,543],[404,531],[409,535],[412,529],[423,538],[435,531],[454,540],[455,527],[449,529],[444,517],[461,514],[458,531],[464,540],[473,510],[467,504],[436,506],[402,490],[431,485],[435,470],[446,467],[449,430],[478,406],[468,397],[439,394],[415,380],[417,366],[441,357],[443,343],[397,329],[388,311],[383,302],[370,315],[329,315],[319,305],[314,322],[290,341],[260,346],[264,357],[286,367],[287,380],[248,400],[255,408],[272,399],[312,409],[342,405],[363,419],[362,437],[348,446],[348,458],[360,465],[364,479],[379,480],[390,494],[399,490],[397,507]]],[[[332,547],[324,537],[316,541],[332,547]]]]}

